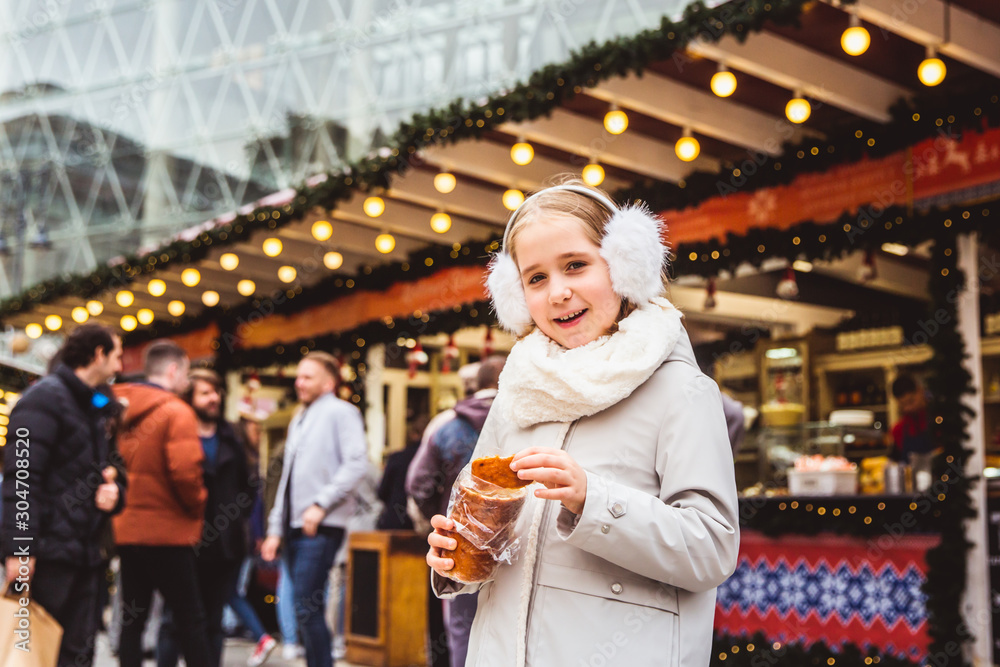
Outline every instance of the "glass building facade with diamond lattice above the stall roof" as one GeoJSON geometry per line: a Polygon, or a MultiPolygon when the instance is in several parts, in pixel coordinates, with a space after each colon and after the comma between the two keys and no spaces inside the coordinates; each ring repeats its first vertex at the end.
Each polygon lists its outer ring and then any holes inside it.
{"type": "Polygon", "coordinates": [[[0,3],[0,297],[378,148],[687,0],[0,3]]]}

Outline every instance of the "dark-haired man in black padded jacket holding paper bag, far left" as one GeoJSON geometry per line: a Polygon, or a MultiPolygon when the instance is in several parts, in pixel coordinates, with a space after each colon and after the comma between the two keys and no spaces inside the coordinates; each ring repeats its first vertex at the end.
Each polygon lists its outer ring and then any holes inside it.
{"type": "Polygon", "coordinates": [[[101,537],[125,502],[124,469],[108,442],[108,394],[121,339],[77,327],[61,362],[14,406],[4,447],[3,552],[7,581],[63,627],[59,667],[93,662],[101,537]]]}

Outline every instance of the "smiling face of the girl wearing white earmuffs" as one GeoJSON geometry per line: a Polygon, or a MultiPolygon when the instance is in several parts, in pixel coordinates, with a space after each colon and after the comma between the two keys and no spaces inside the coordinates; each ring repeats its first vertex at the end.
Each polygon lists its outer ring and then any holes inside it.
{"type": "Polygon", "coordinates": [[[563,347],[586,345],[614,325],[621,298],[611,288],[600,246],[576,218],[558,213],[525,225],[517,265],[531,319],[563,347]]]}

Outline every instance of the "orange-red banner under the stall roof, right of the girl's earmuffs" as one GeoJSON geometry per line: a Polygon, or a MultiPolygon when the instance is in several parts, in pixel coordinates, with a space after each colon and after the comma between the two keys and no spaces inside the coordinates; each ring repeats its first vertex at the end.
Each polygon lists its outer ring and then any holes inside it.
{"type": "MultiPolygon", "coordinates": [[[[803,151],[821,149],[826,149],[823,142],[803,151]]],[[[933,139],[882,158],[802,174],[788,185],[742,190],[747,177],[773,169],[775,160],[766,155],[748,157],[736,165],[739,175],[719,181],[719,197],[682,211],[663,212],[667,240],[674,246],[724,240],[727,233],[746,234],[754,227],[788,229],[806,221],[832,222],[859,209],[877,218],[890,206],[945,206],[1000,192],[1000,129],[963,136],[942,130],[933,139]]]]}

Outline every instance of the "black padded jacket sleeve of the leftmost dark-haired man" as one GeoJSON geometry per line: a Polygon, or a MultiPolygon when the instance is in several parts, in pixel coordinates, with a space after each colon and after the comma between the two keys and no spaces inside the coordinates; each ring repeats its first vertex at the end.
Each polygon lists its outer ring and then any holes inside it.
{"type": "MultiPolygon", "coordinates": [[[[37,555],[41,526],[43,480],[52,465],[50,459],[59,434],[60,415],[55,401],[46,400],[38,392],[18,401],[7,426],[7,446],[3,448],[3,552],[14,554],[28,545],[31,555],[37,555]],[[25,470],[18,477],[18,471],[25,470]],[[20,482],[20,483],[19,483],[20,482]],[[22,514],[19,501],[27,501],[22,514]],[[26,516],[25,516],[26,515],[26,516]],[[31,541],[14,538],[30,538],[31,541]]],[[[22,505],[22,508],[24,505],[22,505]]]]}

